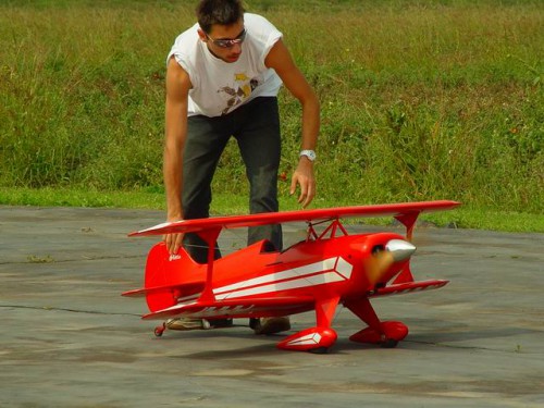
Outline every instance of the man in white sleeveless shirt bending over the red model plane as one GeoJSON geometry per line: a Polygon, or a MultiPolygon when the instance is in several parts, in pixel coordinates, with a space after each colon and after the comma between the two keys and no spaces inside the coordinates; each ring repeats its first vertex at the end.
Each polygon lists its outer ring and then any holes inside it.
{"type": "MultiPolygon", "coordinates": [[[[281,154],[277,91],[283,84],[302,106],[300,157],[292,177],[298,202],[316,194],[313,160],[319,101],[295,65],[280,33],[264,17],[245,13],[240,0],[201,0],[198,23],[182,33],[168,57],[164,185],[166,221],[209,217],[211,181],[231,136],[237,140],[250,184],[250,213],[279,210],[281,154]]],[[[248,244],[269,239],[282,249],[280,225],[249,228],[248,244]]],[[[181,245],[197,262],[207,248],[196,234],[170,234],[171,254],[181,245]]],[[[217,257],[219,257],[217,250],[217,257]]],[[[287,318],[252,320],[257,333],[289,329],[287,318]]],[[[169,322],[170,329],[201,329],[198,321],[169,322]]]]}

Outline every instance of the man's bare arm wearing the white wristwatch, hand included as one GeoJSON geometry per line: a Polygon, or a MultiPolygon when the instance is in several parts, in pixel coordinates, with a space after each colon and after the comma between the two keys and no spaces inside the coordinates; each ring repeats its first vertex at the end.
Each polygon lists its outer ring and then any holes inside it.
{"type": "MultiPolygon", "coordinates": [[[[281,39],[270,50],[264,64],[274,69],[285,87],[302,106],[301,150],[316,150],[320,126],[319,100],[281,39]]],[[[306,156],[300,157],[293,174],[290,194],[295,194],[297,184],[300,186],[298,202],[307,207],[316,196],[316,178],[313,162],[306,156]]]]}

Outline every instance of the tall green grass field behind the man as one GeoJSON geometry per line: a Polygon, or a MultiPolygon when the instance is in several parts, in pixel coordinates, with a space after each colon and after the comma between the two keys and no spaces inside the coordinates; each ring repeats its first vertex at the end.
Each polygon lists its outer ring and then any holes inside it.
{"type": "MultiPolygon", "coordinates": [[[[164,58],[194,4],[1,2],[0,203],[162,206],[164,58]]],[[[314,207],[446,198],[469,211],[459,226],[544,231],[542,2],[246,4],[284,33],[320,97],[314,207]]],[[[289,174],[300,109],[282,92],[281,111],[289,174]]],[[[245,212],[246,189],[231,144],[215,211],[245,212]]]]}

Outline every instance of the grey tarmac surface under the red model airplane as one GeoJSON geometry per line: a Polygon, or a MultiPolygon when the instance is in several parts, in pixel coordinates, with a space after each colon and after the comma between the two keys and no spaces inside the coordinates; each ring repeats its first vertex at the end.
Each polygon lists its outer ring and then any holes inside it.
{"type": "MultiPolygon", "coordinates": [[[[120,294],[143,285],[157,240],[126,234],[162,221],[0,207],[0,407],[544,407],[544,234],[417,228],[416,279],[450,283],[373,300],[408,337],[351,343],[361,322],[338,308],[337,343],[313,355],[279,350],[282,335],[244,320],[154,337],[145,300],[120,294]]],[[[285,240],[301,228],[286,225],[285,240]]],[[[244,240],[220,237],[224,251],[244,240]]],[[[294,316],[290,333],[313,319],[294,316]]]]}

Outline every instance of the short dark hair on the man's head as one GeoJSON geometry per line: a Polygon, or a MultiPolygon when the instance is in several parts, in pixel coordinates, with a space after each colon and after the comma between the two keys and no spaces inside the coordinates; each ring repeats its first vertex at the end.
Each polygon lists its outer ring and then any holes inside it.
{"type": "Polygon", "coordinates": [[[201,0],[196,12],[200,28],[209,34],[213,24],[236,24],[244,17],[245,10],[242,0],[201,0]]]}

